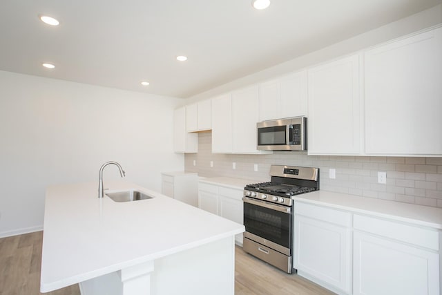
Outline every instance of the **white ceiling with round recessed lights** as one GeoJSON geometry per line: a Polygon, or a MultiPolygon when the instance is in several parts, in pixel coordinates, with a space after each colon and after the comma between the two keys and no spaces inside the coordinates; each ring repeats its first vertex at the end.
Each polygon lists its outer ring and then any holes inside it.
{"type": "Polygon", "coordinates": [[[186,98],[439,3],[1,0],[0,70],[186,98]]]}

